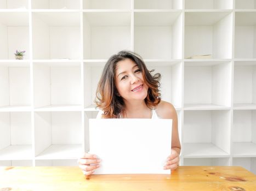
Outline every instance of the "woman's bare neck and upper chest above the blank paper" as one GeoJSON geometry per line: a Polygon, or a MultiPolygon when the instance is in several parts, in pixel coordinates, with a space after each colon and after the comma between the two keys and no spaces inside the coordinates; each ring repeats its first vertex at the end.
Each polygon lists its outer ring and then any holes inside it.
{"type": "Polygon", "coordinates": [[[144,100],[124,101],[123,117],[126,118],[151,118],[151,110],[147,108],[144,100]]]}

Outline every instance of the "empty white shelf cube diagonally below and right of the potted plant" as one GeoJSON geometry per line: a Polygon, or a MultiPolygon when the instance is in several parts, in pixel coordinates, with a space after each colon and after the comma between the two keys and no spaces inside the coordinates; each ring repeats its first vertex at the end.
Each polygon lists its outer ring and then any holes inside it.
{"type": "Polygon", "coordinates": [[[37,62],[33,65],[35,108],[49,111],[67,106],[67,109],[79,110],[82,103],[79,62],[37,62]]]}

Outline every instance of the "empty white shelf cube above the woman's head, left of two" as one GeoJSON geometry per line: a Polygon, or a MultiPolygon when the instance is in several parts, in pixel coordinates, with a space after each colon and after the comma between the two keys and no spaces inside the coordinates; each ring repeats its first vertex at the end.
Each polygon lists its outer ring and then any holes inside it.
{"type": "Polygon", "coordinates": [[[84,59],[108,59],[120,50],[130,50],[129,12],[83,13],[84,59]]]}

